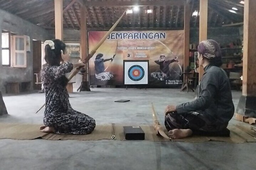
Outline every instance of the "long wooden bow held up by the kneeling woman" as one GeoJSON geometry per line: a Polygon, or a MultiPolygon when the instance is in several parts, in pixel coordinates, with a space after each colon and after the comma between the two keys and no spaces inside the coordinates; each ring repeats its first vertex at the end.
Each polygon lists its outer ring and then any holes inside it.
{"type": "MultiPolygon", "coordinates": [[[[127,9],[123,12],[121,17],[117,20],[117,22],[110,28],[110,30],[105,34],[105,36],[100,40],[100,42],[98,42],[98,44],[93,48],[93,50],[90,52],[90,54],[88,54],[87,57],[84,57],[84,59],[82,60],[83,63],[87,64],[89,62],[90,58],[93,57],[93,55],[96,53],[96,51],[100,47],[100,45],[102,45],[102,43],[107,39],[107,37],[110,35],[110,33],[115,29],[115,27],[120,22],[120,20],[122,19],[123,15],[126,13],[126,11],[127,11],[127,9]]],[[[83,67],[84,66],[77,67],[76,70],[74,70],[68,76],[68,78],[67,78],[68,81],[70,81],[83,67]]],[[[43,106],[36,113],[38,113],[45,105],[46,105],[46,103],[44,103],[43,106]]]]}

